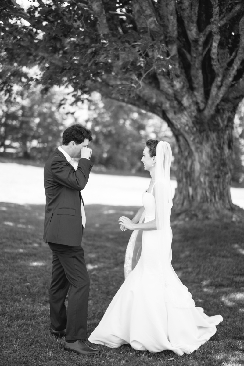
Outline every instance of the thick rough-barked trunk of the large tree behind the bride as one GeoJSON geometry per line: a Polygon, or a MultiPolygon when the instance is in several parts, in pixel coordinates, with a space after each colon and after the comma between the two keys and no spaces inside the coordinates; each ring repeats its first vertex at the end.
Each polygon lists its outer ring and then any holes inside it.
{"type": "Polygon", "coordinates": [[[230,197],[234,113],[219,113],[191,140],[173,128],[178,145],[174,211],[215,216],[233,210],[230,197]],[[218,124],[216,123],[218,120],[218,124]],[[219,128],[221,121],[221,128],[219,128]],[[206,214],[205,214],[206,213],[206,214]]]}

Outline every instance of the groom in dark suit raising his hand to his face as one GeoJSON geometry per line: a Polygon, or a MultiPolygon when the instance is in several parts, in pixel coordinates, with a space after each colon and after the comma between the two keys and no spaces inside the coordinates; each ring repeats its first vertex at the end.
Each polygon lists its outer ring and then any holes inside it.
{"type": "Polygon", "coordinates": [[[50,330],[54,335],[66,334],[65,350],[83,355],[99,352],[83,341],[90,280],[80,245],[86,221],[80,191],[85,188],[93,166],[92,150],[88,147],[91,140],[91,131],[80,124],[68,127],[63,133],[62,146],[44,167],[44,240],[53,252],[50,330]],[[72,158],[80,158],[76,171],[72,158]],[[68,311],[64,304],[67,294],[68,311]]]}

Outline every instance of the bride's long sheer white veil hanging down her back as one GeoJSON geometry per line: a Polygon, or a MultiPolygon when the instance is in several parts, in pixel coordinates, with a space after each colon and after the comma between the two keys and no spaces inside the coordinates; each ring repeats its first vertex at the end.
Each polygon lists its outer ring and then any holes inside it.
{"type": "Polygon", "coordinates": [[[170,165],[172,151],[168,142],[160,141],[156,150],[155,166],[155,204],[157,220],[157,255],[161,258],[158,275],[162,280],[165,301],[174,307],[195,306],[187,287],[181,283],[171,265],[172,259],[172,230],[170,213],[173,206],[172,190],[170,185],[170,165]]]}

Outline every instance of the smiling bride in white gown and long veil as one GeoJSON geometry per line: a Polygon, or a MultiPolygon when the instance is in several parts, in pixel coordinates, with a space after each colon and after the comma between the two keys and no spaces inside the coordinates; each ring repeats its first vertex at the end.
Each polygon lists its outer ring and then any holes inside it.
{"type": "Polygon", "coordinates": [[[134,230],[125,254],[125,281],[91,333],[91,343],[189,354],[209,340],[223,320],[195,306],[171,265],[171,158],[169,143],[146,142],[142,162],[151,181],[142,194],[143,206],[132,220],[119,219],[121,230],[134,230]]]}

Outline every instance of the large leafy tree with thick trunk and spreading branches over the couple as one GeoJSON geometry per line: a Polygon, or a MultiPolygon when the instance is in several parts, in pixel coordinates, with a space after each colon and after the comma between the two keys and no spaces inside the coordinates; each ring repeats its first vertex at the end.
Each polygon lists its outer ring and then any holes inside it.
{"type": "Polygon", "coordinates": [[[78,98],[96,90],[157,114],[179,149],[174,207],[233,209],[243,0],[37,0],[26,10],[17,2],[1,1],[6,92],[17,66],[38,64],[46,88],[67,83],[78,98]]]}

